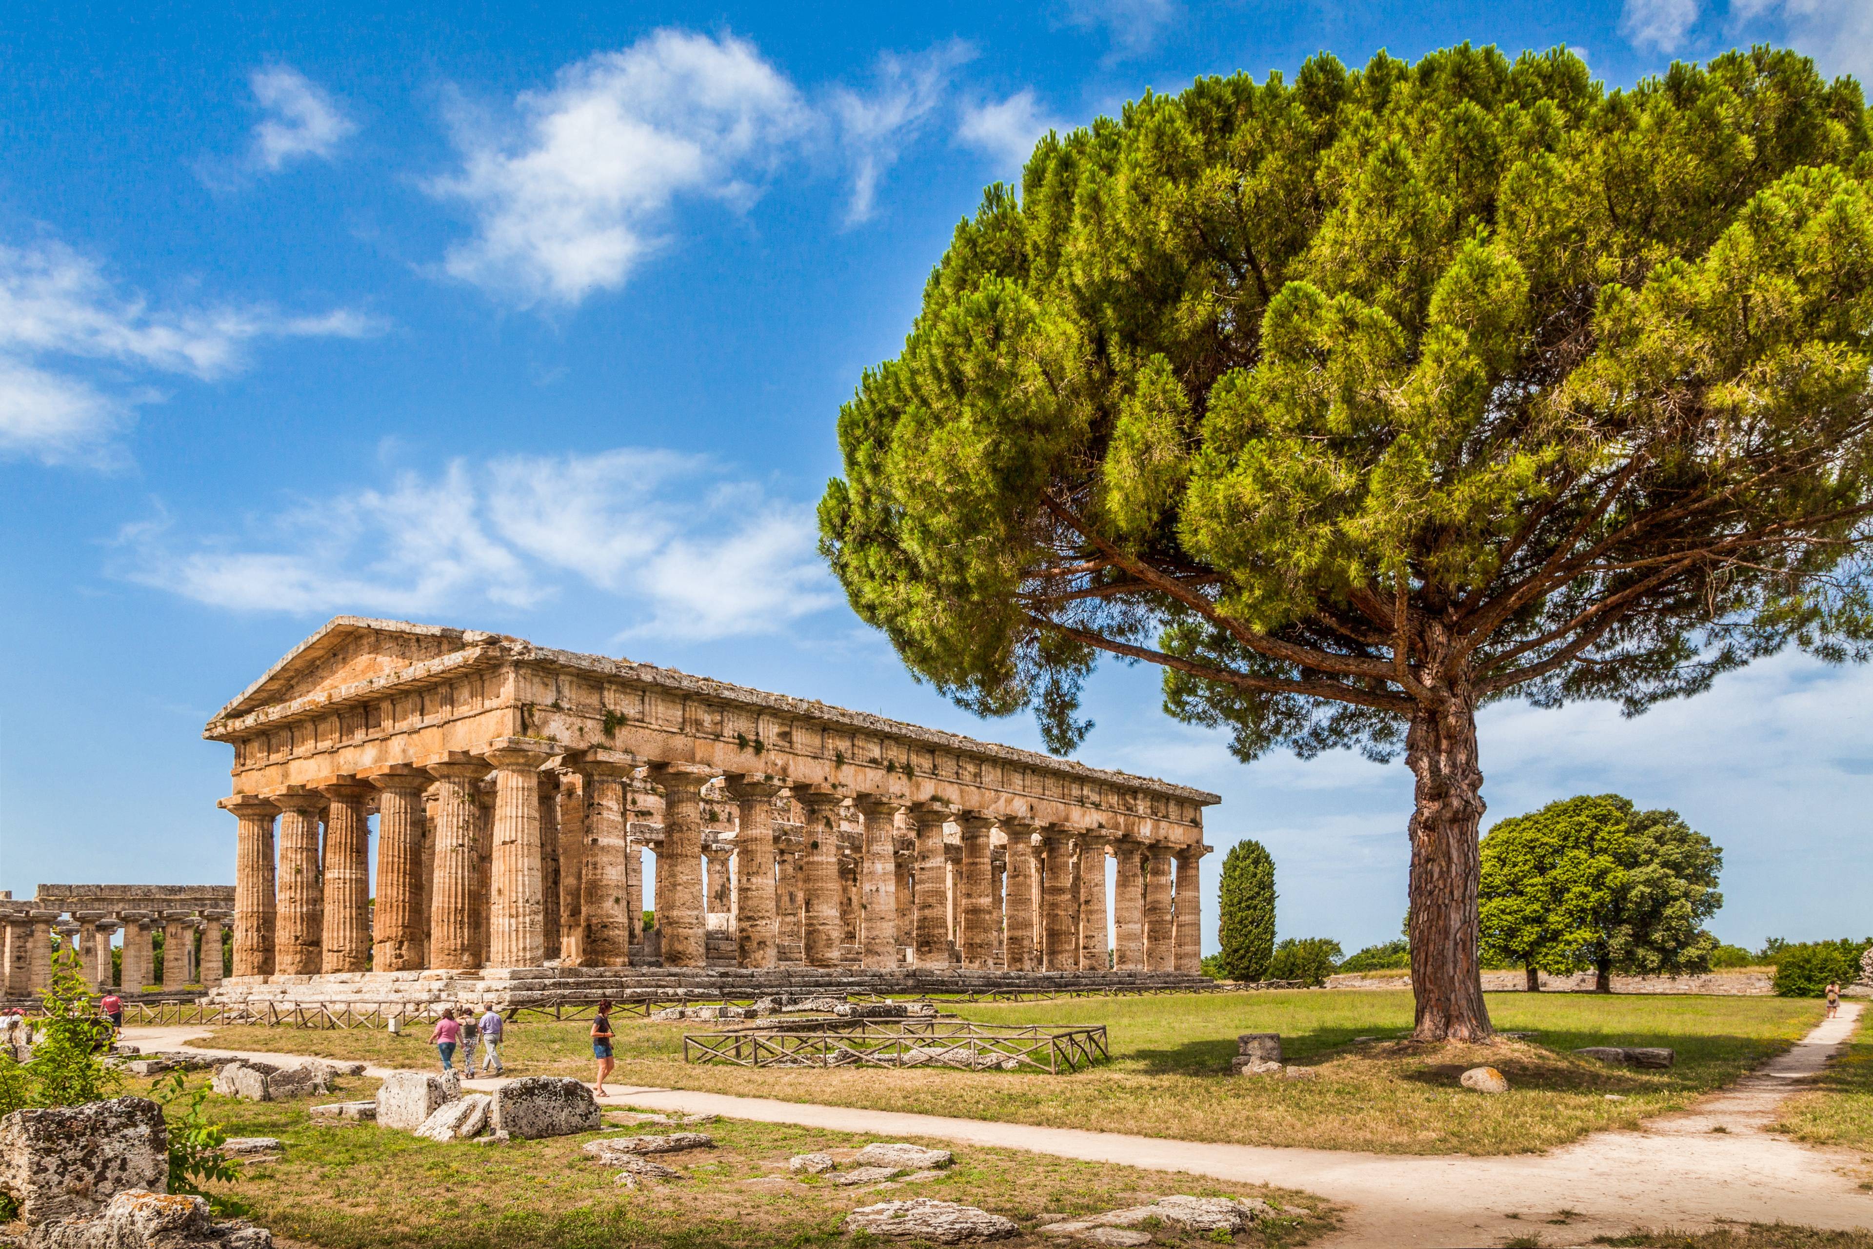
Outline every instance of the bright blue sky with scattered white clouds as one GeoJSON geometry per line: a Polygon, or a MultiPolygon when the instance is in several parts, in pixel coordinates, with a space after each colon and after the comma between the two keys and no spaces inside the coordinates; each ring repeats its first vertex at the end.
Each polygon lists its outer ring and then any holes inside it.
{"type": "MultiPolygon", "coordinates": [[[[839,403],[1049,125],[1463,39],[1609,84],[1751,39],[1873,73],[1867,0],[395,7],[0,11],[0,889],[232,880],[200,725],[337,612],[1034,745],[903,672],[811,507],[839,403]]],[[[1719,936],[1860,933],[1869,704],[1781,657],[1637,721],[1495,708],[1485,798],[1673,805],[1727,850],[1719,936]]],[[[1397,933],[1401,764],[1240,766],[1148,670],[1090,712],[1081,758],[1272,848],[1283,934],[1397,933]]]]}

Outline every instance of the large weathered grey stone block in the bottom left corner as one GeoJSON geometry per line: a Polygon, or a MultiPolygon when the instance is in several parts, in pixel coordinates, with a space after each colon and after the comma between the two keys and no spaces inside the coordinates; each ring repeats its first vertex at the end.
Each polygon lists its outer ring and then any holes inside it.
{"type": "Polygon", "coordinates": [[[0,1120],[0,1193],[26,1223],[103,1210],[118,1193],[169,1187],[169,1129],[146,1097],[15,1110],[0,1120]]]}

